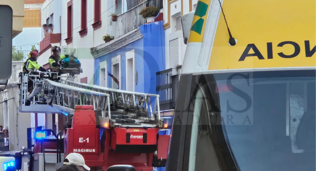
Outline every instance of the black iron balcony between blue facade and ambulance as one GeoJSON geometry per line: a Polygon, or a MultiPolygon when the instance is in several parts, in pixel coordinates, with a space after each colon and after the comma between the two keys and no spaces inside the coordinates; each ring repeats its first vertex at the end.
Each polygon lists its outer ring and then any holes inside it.
{"type": "Polygon", "coordinates": [[[182,65],[156,72],[156,91],[159,95],[160,110],[174,109],[177,100],[182,65]],[[177,75],[172,75],[176,70],[177,75]]]}

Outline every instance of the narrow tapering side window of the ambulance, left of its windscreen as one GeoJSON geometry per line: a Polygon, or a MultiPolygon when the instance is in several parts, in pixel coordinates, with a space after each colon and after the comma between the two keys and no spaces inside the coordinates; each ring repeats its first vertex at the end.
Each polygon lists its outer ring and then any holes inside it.
{"type": "MultiPolygon", "coordinates": [[[[190,151],[189,151],[189,162],[188,171],[200,171],[209,170],[210,165],[213,166],[213,171],[220,171],[218,167],[218,161],[214,146],[210,138],[211,127],[210,127],[210,115],[212,115],[212,107],[209,104],[210,94],[200,88],[197,91],[196,97],[190,103],[188,125],[191,127],[191,139],[190,139],[190,151]],[[207,164],[201,164],[207,163],[207,164]]],[[[186,167],[184,167],[186,169],[186,167]]]]}

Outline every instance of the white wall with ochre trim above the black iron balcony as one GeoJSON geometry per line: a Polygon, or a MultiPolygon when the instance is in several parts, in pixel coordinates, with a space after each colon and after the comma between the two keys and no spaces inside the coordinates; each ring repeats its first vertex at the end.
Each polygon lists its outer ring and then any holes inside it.
{"type": "MultiPolygon", "coordinates": [[[[170,3],[170,9],[168,9],[168,2],[170,0],[164,0],[164,23],[169,23],[170,27],[165,29],[165,52],[166,52],[166,67],[165,69],[175,68],[177,63],[182,65],[186,45],[183,43],[183,36],[181,32],[180,16],[190,12],[190,1],[192,5],[192,11],[195,10],[197,0],[176,0],[170,3]],[[181,4],[183,3],[183,4],[181,4]],[[181,14],[181,9],[182,14],[181,14]],[[170,18],[168,17],[168,10],[170,10],[170,18]],[[175,45],[175,41],[178,41],[178,46],[175,45]],[[170,46],[171,45],[171,46],[170,46]],[[175,50],[178,49],[178,50],[175,50]],[[178,54],[178,55],[176,55],[178,54]]],[[[175,74],[175,73],[173,73],[175,74]]]]}

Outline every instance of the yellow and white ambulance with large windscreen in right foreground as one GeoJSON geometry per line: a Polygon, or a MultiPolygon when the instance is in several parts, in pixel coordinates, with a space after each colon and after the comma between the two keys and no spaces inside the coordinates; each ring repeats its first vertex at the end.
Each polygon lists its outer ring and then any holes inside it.
{"type": "Polygon", "coordinates": [[[315,0],[198,0],[181,16],[167,171],[316,169],[315,9],[315,0]]]}

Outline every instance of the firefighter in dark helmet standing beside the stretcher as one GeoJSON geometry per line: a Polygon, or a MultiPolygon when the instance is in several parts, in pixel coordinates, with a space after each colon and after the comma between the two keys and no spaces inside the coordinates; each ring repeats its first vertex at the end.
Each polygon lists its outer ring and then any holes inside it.
{"type": "MultiPolygon", "coordinates": [[[[49,67],[51,69],[51,72],[58,72],[58,76],[61,75],[59,66],[61,63],[61,60],[66,58],[66,55],[60,55],[60,47],[58,46],[52,46],[52,56],[48,58],[49,67]]],[[[52,80],[57,81],[60,78],[57,78],[57,75],[52,75],[52,80]]]]}

